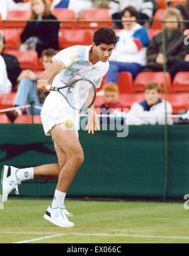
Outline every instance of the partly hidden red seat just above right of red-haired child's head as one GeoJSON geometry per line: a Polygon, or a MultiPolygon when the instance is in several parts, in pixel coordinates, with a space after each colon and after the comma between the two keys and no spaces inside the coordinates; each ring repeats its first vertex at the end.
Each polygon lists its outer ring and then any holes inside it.
{"type": "Polygon", "coordinates": [[[132,92],[132,75],[130,72],[120,72],[118,75],[118,87],[120,94],[128,94],[132,92]]]}

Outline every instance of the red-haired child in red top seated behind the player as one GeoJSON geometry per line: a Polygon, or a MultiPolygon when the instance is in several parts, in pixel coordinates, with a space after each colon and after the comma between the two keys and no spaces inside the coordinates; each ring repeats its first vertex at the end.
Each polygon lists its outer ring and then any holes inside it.
{"type": "MultiPolygon", "coordinates": [[[[120,102],[118,102],[119,90],[117,84],[113,82],[106,83],[103,85],[103,92],[105,103],[100,106],[101,114],[115,114],[116,117],[117,111],[120,113],[123,112],[124,107],[120,102]]],[[[110,118],[101,117],[100,122],[107,122],[109,124],[110,118]]]]}

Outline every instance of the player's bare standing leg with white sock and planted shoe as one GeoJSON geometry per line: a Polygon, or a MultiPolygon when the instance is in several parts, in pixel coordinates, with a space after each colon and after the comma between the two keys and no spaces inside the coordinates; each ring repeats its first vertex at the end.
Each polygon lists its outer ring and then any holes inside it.
{"type": "Polygon", "coordinates": [[[83,149],[76,132],[73,130],[62,130],[62,124],[55,125],[50,134],[54,138],[55,145],[57,144],[56,152],[59,162],[62,162],[62,152],[66,154],[67,159],[64,165],[60,164],[62,169],[60,170],[54,199],[45,212],[44,217],[57,226],[72,227],[74,223],[67,219],[67,216],[72,216],[72,214],[65,209],[64,199],[69,185],[83,162],[83,149]]]}

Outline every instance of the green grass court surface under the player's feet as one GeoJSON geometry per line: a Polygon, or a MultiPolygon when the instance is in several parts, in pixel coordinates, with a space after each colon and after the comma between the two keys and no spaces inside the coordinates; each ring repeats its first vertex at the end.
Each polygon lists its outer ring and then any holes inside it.
{"type": "Polygon", "coordinates": [[[51,198],[8,198],[0,210],[0,243],[189,243],[183,202],[72,200],[73,228],[43,214],[51,198]]]}

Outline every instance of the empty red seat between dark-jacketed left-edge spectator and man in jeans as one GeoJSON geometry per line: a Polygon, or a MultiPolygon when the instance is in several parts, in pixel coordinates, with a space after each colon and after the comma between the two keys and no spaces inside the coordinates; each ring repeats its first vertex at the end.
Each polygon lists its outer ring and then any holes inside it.
{"type": "Polygon", "coordinates": [[[16,50],[6,50],[6,53],[12,54],[16,56],[20,63],[21,69],[30,69],[30,70],[37,70],[38,65],[38,55],[37,52],[34,50],[28,51],[16,51],[16,50]]]}

